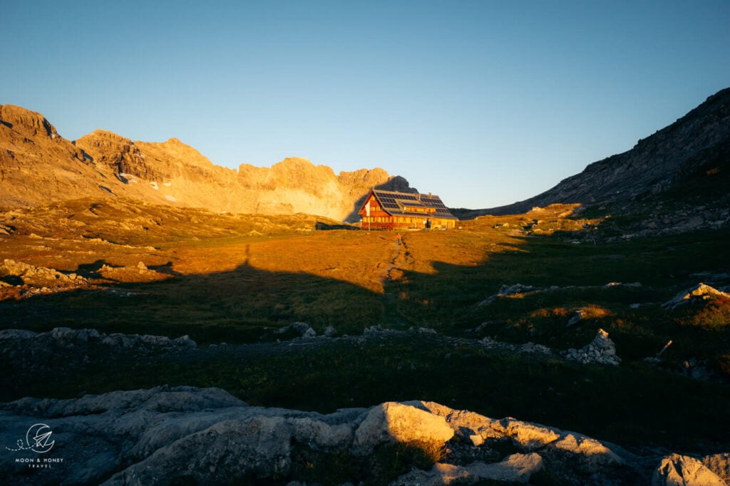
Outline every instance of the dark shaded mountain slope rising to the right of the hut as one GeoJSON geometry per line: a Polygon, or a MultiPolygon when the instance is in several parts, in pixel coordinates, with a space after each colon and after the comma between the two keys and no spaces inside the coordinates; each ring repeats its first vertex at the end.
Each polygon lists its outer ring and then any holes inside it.
{"type": "Polygon", "coordinates": [[[553,203],[600,204],[658,195],[698,172],[725,166],[729,145],[730,88],[726,88],[625,153],[591,163],[538,196],[470,215],[518,214],[553,203]]]}

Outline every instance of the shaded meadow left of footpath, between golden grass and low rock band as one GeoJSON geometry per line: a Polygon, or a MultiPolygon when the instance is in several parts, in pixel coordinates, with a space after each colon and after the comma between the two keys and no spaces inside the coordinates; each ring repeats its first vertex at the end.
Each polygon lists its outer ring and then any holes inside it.
{"type": "MultiPolygon", "coordinates": [[[[93,274],[105,264],[82,264],[78,271],[93,274]]],[[[296,321],[309,323],[319,333],[328,325],[341,333],[359,333],[362,323],[378,322],[382,307],[382,296],[341,280],[247,264],[164,282],[116,283],[0,302],[2,328],[188,334],[199,344],[258,342],[296,321]]]]}

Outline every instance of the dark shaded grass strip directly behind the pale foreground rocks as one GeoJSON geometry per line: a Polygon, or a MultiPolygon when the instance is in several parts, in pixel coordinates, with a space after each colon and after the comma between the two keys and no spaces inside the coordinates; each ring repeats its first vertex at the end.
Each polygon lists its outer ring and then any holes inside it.
{"type": "MultiPolygon", "coordinates": [[[[730,447],[730,387],[641,362],[579,366],[419,333],[280,346],[281,352],[266,346],[244,353],[217,347],[182,356],[128,356],[90,365],[80,375],[59,370],[60,376],[36,377],[36,382],[25,377],[13,393],[72,397],[160,384],[212,386],[251,405],[318,412],[420,399],[580,431],[625,447],[730,447]]],[[[4,386],[4,393],[10,389],[4,386]]]]}

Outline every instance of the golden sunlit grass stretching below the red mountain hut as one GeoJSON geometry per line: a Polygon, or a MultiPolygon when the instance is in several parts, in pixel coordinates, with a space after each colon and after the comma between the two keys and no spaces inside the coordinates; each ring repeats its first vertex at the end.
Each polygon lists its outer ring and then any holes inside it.
{"type": "MultiPolygon", "coordinates": [[[[538,212],[563,221],[558,216],[570,211],[572,207],[560,206],[538,212]]],[[[97,261],[110,267],[143,262],[149,267],[169,265],[183,275],[247,265],[271,272],[303,272],[383,293],[383,281],[399,279],[404,272],[436,274],[434,263],[477,266],[491,253],[519,251],[510,234],[480,231],[496,220],[483,218],[465,222],[468,231],[404,234],[404,245],[399,247],[390,232],[314,233],[315,219],[304,215],[214,215],[199,209],[137,207],[135,201],[80,200],[13,212],[8,219],[16,231],[4,242],[0,258],[64,271],[97,261]]],[[[515,225],[515,220],[523,219],[518,215],[499,220],[515,225]]]]}

